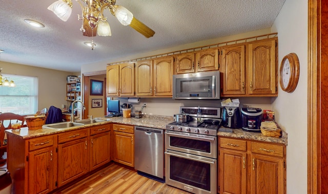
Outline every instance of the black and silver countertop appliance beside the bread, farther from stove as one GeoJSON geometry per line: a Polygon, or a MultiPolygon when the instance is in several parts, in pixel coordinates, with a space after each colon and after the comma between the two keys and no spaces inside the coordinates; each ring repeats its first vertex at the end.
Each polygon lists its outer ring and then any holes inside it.
{"type": "Polygon", "coordinates": [[[242,130],[261,132],[262,115],[260,108],[241,108],[242,130]]]}

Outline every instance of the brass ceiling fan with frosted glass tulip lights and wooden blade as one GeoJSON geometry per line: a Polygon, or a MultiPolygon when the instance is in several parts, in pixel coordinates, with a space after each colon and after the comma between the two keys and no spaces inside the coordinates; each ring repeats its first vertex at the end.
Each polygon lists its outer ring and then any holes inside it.
{"type": "MultiPolygon", "coordinates": [[[[109,9],[112,15],[124,26],[130,25],[133,29],[149,38],[155,32],[148,26],[138,21],[133,14],[123,6],[115,5],[116,0],[75,0],[82,9],[82,15],[78,14],[78,20],[83,20],[80,30],[85,36],[111,36],[111,29],[107,17],[103,12],[109,9]],[[84,3],[84,4],[83,4],[84,3]]],[[[72,0],[58,0],[51,4],[48,9],[53,11],[61,20],[67,21],[72,12],[72,0]]]]}

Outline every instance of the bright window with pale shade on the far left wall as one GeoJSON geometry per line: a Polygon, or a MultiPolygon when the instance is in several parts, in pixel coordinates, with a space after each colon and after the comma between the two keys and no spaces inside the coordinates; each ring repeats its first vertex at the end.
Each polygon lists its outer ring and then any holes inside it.
{"type": "Polygon", "coordinates": [[[10,77],[16,87],[0,86],[0,112],[20,115],[34,114],[37,111],[37,77],[3,74],[10,77]]]}

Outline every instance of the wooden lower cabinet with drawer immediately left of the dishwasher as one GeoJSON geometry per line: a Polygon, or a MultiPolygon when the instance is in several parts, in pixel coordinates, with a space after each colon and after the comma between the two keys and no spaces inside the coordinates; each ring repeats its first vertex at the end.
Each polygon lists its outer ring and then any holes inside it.
{"type": "Polygon", "coordinates": [[[134,167],[134,127],[113,124],[113,161],[134,167]]]}

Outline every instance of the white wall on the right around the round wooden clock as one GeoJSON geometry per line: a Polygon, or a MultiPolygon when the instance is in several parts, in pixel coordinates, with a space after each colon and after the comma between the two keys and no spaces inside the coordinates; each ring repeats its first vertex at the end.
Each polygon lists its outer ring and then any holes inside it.
{"type": "Polygon", "coordinates": [[[288,133],[287,193],[307,193],[308,1],[286,0],[272,29],[278,32],[279,66],[291,52],[300,62],[296,90],[287,93],[279,87],[272,106],[276,121],[288,133]]]}

